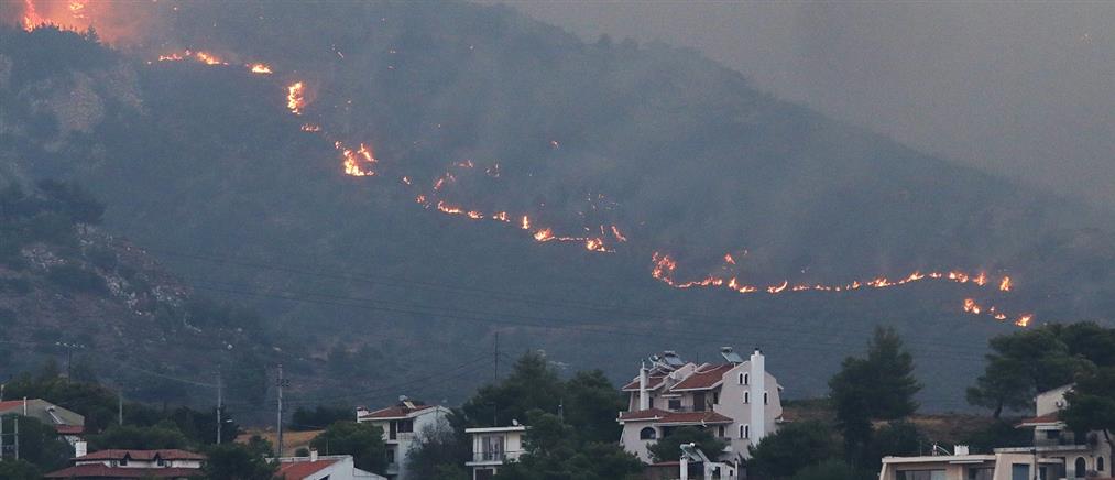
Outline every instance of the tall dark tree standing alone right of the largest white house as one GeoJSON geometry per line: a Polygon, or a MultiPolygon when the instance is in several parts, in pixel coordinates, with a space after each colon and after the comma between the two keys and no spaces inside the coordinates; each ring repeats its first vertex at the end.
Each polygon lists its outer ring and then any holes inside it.
{"type": "Polygon", "coordinates": [[[918,410],[913,356],[893,328],[875,327],[865,358],[847,357],[828,381],[844,454],[853,467],[870,462],[872,420],[895,420],[918,410]]]}

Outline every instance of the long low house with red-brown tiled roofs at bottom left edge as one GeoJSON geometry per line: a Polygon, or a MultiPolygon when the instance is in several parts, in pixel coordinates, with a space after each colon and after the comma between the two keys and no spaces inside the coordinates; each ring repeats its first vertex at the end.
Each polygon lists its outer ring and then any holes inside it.
{"type": "Polygon", "coordinates": [[[72,467],[46,474],[59,479],[190,479],[201,476],[205,455],[185,450],[101,450],[85,453],[75,447],[72,467]]]}

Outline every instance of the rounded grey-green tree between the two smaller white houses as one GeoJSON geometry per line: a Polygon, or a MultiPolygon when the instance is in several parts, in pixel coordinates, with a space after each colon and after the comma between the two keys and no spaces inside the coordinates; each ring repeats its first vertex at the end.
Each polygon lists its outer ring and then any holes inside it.
{"type": "Polygon", "coordinates": [[[457,415],[448,422],[426,425],[407,452],[407,471],[416,478],[468,478],[465,462],[472,459],[473,444],[468,435],[454,425],[457,415]]]}

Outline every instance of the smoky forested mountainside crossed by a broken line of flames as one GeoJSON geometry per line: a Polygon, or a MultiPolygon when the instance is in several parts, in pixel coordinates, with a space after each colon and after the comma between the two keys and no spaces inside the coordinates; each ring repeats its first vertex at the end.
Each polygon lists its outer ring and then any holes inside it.
{"type": "Polygon", "coordinates": [[[498,333],[615,378],[653,351],[762,346],[795,397],[889,324],[927,405],[962,409],[988,336],[1115,310],[1109,212],[780,102],[694,51],[463,3],[191,2],[164,22],[123,50],[0,31],[0,170],[79,179],[193,288],[298,337],[295,388],[459,397],[492,376],[498,333]],[[952,269],[988,285],[911,276],[952,269]],[[702,278],[715,288],[666,285],[702,278]]]}

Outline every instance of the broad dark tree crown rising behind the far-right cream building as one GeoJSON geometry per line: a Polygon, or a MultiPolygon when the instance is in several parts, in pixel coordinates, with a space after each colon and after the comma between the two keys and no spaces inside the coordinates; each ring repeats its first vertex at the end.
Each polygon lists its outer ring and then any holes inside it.
{"type": "Polygon", "coordinates": [[[1092,368],[1092,358],[1109,361],[1104,347],[1115,347],[1115,343],[1106,345],[1111,334],[1103,330],[1095,324],[1047,325],[991,338],[987,367],[976,386],[968,388],[968,403],[991,409],[996,419],[1004,410],[1029,407],[1038,392],[1070,383],[1075,374],[1092,368]]]}

